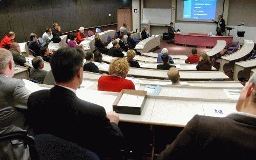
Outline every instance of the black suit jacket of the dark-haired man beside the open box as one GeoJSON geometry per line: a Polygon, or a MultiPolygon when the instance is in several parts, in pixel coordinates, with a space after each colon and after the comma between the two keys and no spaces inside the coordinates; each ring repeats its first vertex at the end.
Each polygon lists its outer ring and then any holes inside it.
{"type": "Polygon", "coordinates": [[[106,118],[103,107],[83,101],[61,86],[31,94],[28,122],[35,134],[49,133],[98,155],[120,149],[123,142],[121,130],[106,118]]]}

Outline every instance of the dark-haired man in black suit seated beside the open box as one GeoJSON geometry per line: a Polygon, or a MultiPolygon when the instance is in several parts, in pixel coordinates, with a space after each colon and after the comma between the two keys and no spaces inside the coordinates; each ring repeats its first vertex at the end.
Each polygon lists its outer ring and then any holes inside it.
{"type": "Polygon", "coordinates": [[[83,79],[83,59],[84,53],[79,48],[62,48],[52,55],[56,85],[31,94],[28,123],[35,134],[58,136],[99,156],[117,153],[123,142],[118,114],[106,113],[103,107],[76,96],[83,79]]]}

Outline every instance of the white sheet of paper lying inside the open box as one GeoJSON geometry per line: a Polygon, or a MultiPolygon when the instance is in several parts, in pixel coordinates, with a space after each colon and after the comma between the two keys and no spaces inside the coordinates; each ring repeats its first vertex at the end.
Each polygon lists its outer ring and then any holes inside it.
{"type": "Polygon", "coordinates": [[[143,100],[144,96],[123,94],[117,105],[127,107],[140,107],[143,100]]]}

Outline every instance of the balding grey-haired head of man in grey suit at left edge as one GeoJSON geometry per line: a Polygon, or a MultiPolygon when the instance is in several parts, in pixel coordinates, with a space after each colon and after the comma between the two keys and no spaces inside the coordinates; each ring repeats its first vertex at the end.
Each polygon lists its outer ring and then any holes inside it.
{"type": "Polygon", "coordinates": [[[8,77],[14,75],[14,61],[10,51],[0,48],[0,74],[8,77]]]}

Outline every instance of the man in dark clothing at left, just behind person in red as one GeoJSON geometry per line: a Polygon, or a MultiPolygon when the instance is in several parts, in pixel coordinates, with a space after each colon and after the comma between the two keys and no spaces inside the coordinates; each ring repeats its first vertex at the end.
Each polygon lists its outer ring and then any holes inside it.
{"type": "Polygon", "coordinates": [[[16,65],[24,66],[24,63],[26,63],[26,58],[20,53],[19,44],[16,42],[11,43],[10,45],[10,52],[13,56],[14,63],[16,65]]]}

